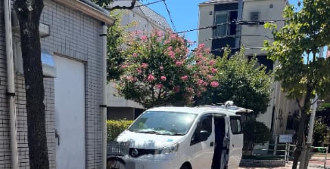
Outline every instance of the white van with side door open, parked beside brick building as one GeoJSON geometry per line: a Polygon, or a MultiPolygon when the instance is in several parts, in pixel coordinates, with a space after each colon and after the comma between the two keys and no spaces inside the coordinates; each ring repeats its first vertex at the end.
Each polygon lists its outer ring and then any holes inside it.
{"type": "Polygon", "coordinates": [[[117,142],[129,155],[109,157],[108,168],[238,168],[243,148],[241,116],[234,106],[157,107],[146,110],[117,142]]]}

